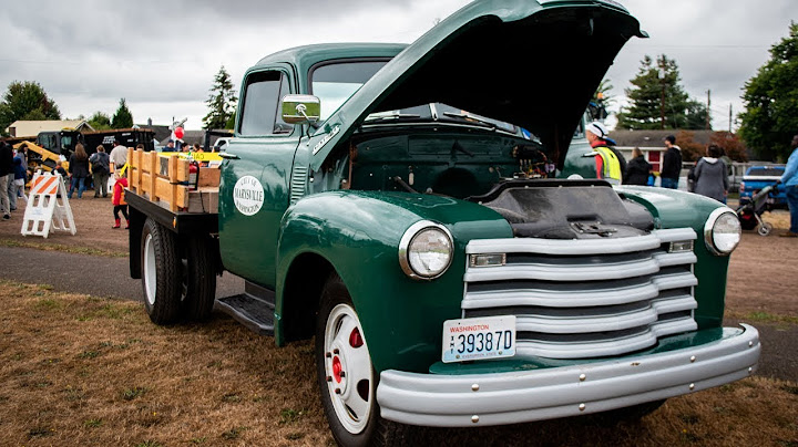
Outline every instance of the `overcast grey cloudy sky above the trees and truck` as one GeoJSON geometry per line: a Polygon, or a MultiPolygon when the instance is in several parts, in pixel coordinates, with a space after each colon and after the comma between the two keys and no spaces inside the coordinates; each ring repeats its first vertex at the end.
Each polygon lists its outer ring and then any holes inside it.
{"type": "MultiPolygon", "coordinates": [[[[607,77],[616,107],[644,55],[666,54],[696,100],[712,91],[713,126],[741,111],[741,89],[798,21],[798,1],[621,0],[651,39],[633,39],[607,77]]],[[[37,81],[64,117],[112,115],[125,97],[136,123],[187,117],[197,129],[221,65],[236,89],[272,52],[319,42],[412,42],[467,0],[13,1],[0,9],[0,89],[37,81]],[[40,14],[40,15],[39,15],[40,14]]]]}

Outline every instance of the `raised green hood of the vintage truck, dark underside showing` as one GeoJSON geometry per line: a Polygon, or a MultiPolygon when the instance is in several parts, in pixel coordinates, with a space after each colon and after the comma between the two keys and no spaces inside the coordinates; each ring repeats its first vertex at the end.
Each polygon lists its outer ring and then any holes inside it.
{"type": "Polygon", "coordinates": [[[587,102],[632,37],[647,35],[614,1],[475,1],[393,58],[319,127],[311,168],[368,114],[436,102],[531,131],[562,167],[587,102]]]}

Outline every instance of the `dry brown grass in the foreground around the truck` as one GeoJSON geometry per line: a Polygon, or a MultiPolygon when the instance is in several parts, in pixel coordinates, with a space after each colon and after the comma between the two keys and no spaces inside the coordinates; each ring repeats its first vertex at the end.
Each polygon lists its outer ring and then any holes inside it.
{"type": "MultiPolygon", "coordinates": [[[[141,304],[0,281],[0,444],[325,446],[313,344],[215,315],[158,328],[141,304]]],[[[419,445],[798,445],[798,384],[751,377],[637,423],[422,429],[419,445]],[[423,441],[421,441],[423,439],[423,441]]]]}

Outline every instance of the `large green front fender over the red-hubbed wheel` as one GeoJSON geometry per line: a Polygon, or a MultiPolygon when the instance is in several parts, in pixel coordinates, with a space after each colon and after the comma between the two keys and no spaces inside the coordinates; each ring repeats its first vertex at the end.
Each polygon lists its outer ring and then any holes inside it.
{"type": "Polygon", "coordinates": [[[347,190],[308,196],[282,222],[275,331],[284,330],[280,315],[289,298],[283,284],[293,261],[315,253],[347,285],[377,372],[427,372],[440,360],[443,321],[461,316],[466,245],[511,237],[493,210],[449,197],[347,190]],[[431,281],[410,279],[399,266],[399,241],[419,220],[444,225],[454,239],[451,267],[431,281]]]}

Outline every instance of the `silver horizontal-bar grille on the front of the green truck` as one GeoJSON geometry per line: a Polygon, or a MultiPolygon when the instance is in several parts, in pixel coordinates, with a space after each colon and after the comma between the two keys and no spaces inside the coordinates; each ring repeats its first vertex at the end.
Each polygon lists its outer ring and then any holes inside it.
{"type": "Polygon", "coordinates": [[[698,304],[690,228],[621,239],[480,239],[471,254],[507,263],[466,269],[463,316],[516,316],[516,353],[551,358],[621,355],[694,331],[698,304]]]}

